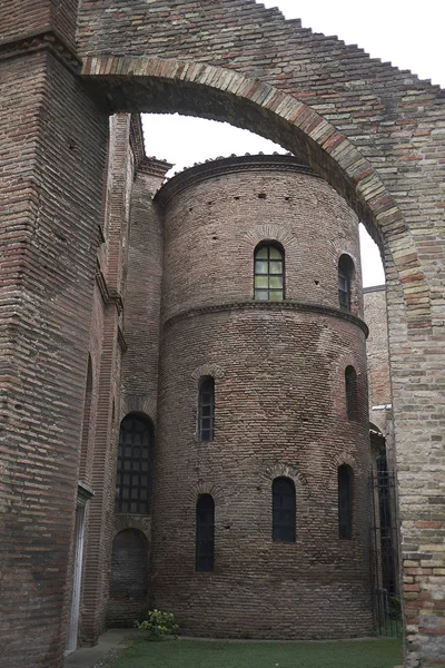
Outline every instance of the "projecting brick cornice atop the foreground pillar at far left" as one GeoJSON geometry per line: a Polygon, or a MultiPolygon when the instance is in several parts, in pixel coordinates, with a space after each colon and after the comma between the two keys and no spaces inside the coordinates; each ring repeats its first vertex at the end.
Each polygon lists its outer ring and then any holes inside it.
{"type": "Polygon", "coordinates": [[[0,41],[0,60],[44,49],[50,50],[72,72],[80,72],[81,61],[77,53],[65,41],[60,32],[51,26],[44,26],[34,32],[22,33],[13,39],[0,41]]]}

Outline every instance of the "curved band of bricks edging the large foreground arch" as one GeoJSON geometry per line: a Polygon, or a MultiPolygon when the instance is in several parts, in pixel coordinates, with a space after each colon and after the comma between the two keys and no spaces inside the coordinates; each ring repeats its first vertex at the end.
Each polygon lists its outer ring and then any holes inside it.
{"type": "Polygon", "coordinates": [[[356,210],[390,257],[404,292],[408,330],[431,325],[429,288],[397,203],[356,146],[304,101],[266,81],[188,60],[87,56],[81,73],[108,96],[112,110],[177,111],[224,120],[301,157],[356,210]]]}

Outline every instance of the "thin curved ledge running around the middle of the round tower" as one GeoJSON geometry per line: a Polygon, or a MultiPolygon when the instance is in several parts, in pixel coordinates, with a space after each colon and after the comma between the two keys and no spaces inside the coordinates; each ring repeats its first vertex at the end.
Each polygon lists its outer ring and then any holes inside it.
{"type": "Polygon", "coordinates": [[[295,299],[285,299],[284,302],[255,302],[255,301],[245,301],[245,302],[228,302],[224,304],[212,304],[209,306],[200,306],[198,308],[189,308],[187,311],[182,311],[181,313],[177,313],[171,317],[167,318],[164,323],[164,326],[167,327],[174,324],[177,321],[185,320],[187,317],[194,317],[196,315],[205,315],[207,313],[220,313],[224,311],[300,311],[303,313],[320,313],[323,315],[327,315],[329,317],[337,317],[340,320],[346,320],[354,325],[358,326],[367,337],[369,334],[368,326],[366,323],[354,315],[353,313],[348,313],[346,311],[340,311],[340,308],[334,308],[333,306],[325,306],[324,304],[314,304],[312,302],[298,302],[295,299]]]}

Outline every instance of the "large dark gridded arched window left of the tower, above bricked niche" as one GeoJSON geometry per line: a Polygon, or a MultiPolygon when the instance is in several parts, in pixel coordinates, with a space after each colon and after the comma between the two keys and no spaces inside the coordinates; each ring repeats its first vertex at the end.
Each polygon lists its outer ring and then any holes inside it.
{"type": "Polygon", "coordinates": [[[149,514],[154,429],[150,420],[130,414],[120,423],[116,512],[149,514]]]}

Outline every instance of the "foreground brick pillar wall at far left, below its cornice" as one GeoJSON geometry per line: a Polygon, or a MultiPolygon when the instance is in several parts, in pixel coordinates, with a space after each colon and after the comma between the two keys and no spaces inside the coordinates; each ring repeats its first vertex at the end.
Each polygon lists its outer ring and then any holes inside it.
{"type": "Polygon", "coordinates": [[[0,68],[0,665],[52,668],[65,641],[106,119],[46,50],[0,68]]]}

